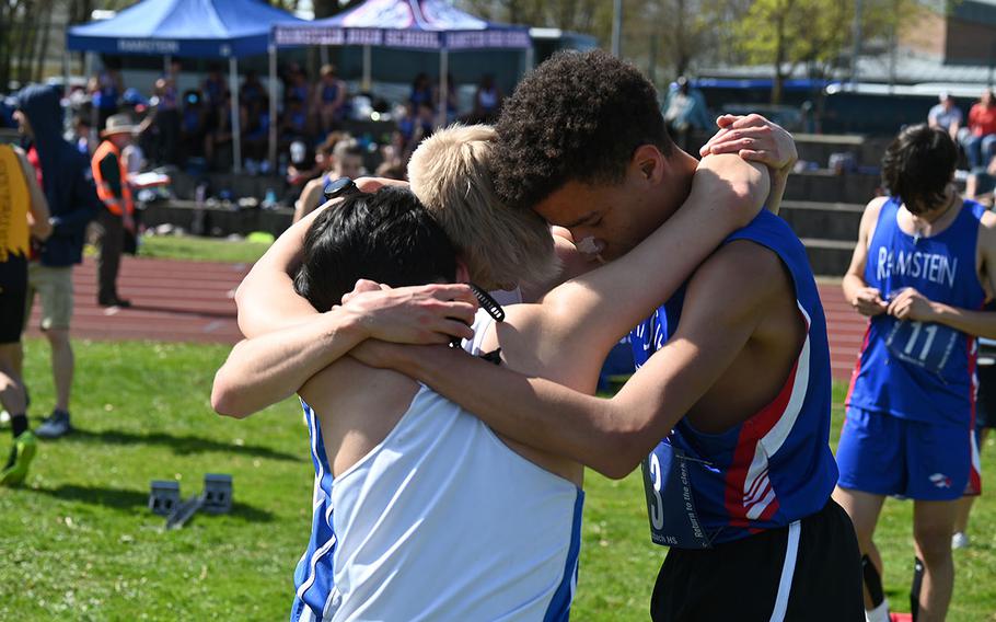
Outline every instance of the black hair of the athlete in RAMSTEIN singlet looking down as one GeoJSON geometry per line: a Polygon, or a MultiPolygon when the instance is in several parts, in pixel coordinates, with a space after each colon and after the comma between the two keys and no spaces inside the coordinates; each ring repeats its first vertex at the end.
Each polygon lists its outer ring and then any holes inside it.
{"type": "Polygon", "coordinates": [[[958,163],[958,147],[951,136],[926,124],[900,131],[882,158],[882,184],[913,212],[936,207],[958,163]]]}

